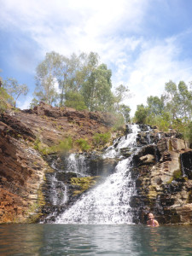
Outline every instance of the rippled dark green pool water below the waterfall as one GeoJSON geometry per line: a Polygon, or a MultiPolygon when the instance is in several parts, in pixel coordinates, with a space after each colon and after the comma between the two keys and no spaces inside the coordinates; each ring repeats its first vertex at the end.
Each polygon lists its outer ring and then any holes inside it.
{"type": "Polygon", "coordinates": [[[6,224],[0,255],[192,255],[192,227],[6,224]]]}

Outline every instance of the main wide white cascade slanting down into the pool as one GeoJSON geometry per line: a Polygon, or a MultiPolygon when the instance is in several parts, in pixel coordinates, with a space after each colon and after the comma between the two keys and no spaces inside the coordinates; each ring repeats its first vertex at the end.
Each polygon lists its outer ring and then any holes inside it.
{"type": "MultiPolygon", "coordinates": [[[[117,148],[133,150],[139,128],[132,125],[132,133],[119,140],[118,145],[108,148],[104,158],[119,154],[117,148]]],[[[129,205],[134,194],[135,183],[131,179],[131,157],[119,161],[116,172],[108,179],[84,194],[72,207],[63,212],[55,223],[63,224],[131,224],[132,213],[129,205]]]]}

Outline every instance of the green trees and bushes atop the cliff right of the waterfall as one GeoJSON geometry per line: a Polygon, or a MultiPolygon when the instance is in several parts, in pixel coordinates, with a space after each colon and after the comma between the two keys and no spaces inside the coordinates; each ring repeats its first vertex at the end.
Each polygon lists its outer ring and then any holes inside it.
{"type": "Polygon", "coordinates": [[[156,125],[160,131],[174,129],[192,143],[192,90],[183,81],[169,81],[163,95],[148,96],[147,106],[137,105],[134,121],[156,125]]]}

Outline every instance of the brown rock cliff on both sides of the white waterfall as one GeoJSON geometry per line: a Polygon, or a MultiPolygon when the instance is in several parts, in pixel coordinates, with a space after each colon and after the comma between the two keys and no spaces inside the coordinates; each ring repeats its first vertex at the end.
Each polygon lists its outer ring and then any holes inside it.
{"type": "MultiPolygon", "coordinates": [[[[58,194],[65,189],[62,183],[69,188],[69,206],[84,190],[100,182],[101,174],[105,177],[113,173],[118,159],[101,159],[93,136],[111,131],[114,122],[107,113],[52,108],[43,102],[34,109],[1,113],[0,223],[35,222],[54,211],[49,197],[54,175],[59,181],[55,188],[58,194]],[[55,145],[59,147],[69,137],[73,142],[84,139],[94,151],[85,154],[90,177],[65,172],[65,149],[62,154],[53,152],[55,145]]],[[[118,136],[120,133],[113,134],[112,139],[118,136]]],[[[147,213],[152,211],[160,224],[191,224],[192,150],[188,143],[174,131],[148,131],[146,125],[141,125],[137,149],[131,169],[137,189],[131,197],[134,222],[145,223],[147,213]]],[[[75,143],[69,150],[79,152],[75,143]]],[[[129,148],[121,148],[121,154],[129,157],[129,148]]]]}

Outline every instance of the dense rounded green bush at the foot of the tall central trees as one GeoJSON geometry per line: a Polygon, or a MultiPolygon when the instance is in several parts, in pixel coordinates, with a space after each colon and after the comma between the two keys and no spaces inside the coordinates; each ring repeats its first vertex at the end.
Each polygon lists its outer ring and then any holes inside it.
{"type": "Polygon", "coordinates": [[[87,107],[84,104],[84,97],[76,91],[68,91],[65,94],[65,107],[75,108],[76,110],[84,110],[87,107]]]}

